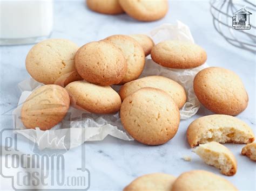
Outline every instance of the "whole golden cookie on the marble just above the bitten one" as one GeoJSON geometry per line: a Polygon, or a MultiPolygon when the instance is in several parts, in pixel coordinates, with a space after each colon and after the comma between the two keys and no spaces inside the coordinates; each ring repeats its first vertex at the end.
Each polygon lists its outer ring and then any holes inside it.
{"type": "Polygon", "coordinates": [[[194,93],[215,114],[238,115],[248,105],[248,95],[240,77],[231,70],[210,67],[194,77],[194,93]]]}

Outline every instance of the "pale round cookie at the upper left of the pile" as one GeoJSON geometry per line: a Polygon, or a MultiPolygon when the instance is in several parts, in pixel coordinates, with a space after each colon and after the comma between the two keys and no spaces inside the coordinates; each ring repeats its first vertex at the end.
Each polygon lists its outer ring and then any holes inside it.
{"type": "Polygon", "coordinates": [[[33,46],[26,56],[26,70],[38,82],[66,84],[82,80],[75,68],[78,46],[66,39],[48,39],[33,46]]]}

